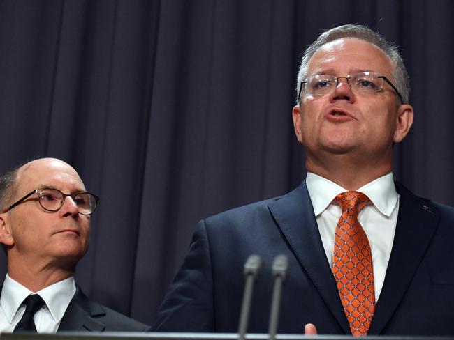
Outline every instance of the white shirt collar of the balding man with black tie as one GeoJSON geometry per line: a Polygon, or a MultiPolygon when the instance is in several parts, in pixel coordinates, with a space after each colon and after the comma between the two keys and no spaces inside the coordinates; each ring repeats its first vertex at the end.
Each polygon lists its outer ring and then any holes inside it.
{"type": "MultiPolygon", "coordinates": [[[[68,308],[69,302],[71,302],[71,299],[75,294],[75,289],[74,277],[68,277],[68,279],[52,284],[36,293],[43,298],[47,309],[49,309],[55,322],[59,323],[64,316],[66,308],[68,308]]],[[[31,293],[34,292],[11,279],[10,276],[6,274],[1,290],[0,305],[5,312],[9,323],[13,323],[13,318],[17,313],[17,309],[19,309],[25,297],[29,296],[31,293]]]]}

